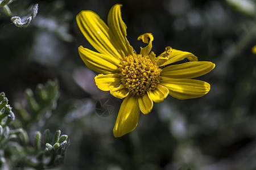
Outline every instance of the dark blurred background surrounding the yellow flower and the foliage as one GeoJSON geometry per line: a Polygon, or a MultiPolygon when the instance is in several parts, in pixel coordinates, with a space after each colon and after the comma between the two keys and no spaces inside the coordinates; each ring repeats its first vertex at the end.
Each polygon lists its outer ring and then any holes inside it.
{"type": "Polygon", "coordinates": [[[37,125],[69,137],[65,163],[56,169],[256,169],[255,1],[26,0],[10,8],[20,15],[35,3],[38,15],[26,28],[15,27],[0,8],[0,92],[14,106],[26,88],[59,81],[57,108],[37,125]],[[123,5],[127,39],[137,52],[144,45],[137,37],[151,32],[156,55],[172,46],[216,63],[198,78],[211,84],[209,94],[168,96],[121,138],[112,133],[121,100],[95,86],[96,73],[77,52],[80,45],[93,48],[75,21],[81,10],[92,10],[106,22],[115,3],[123,5]],[[96,113],[101,99],[112,101],[109,117],[96,113]]]}

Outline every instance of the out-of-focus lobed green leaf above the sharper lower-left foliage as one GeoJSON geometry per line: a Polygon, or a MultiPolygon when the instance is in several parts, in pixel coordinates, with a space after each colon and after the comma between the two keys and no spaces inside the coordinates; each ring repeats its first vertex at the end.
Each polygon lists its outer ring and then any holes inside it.
{"type": "Polygon", "coordinates": [[[24,129],[30,129],[35,122],[43,122],[51,116],[52,110],[56,108],[59,97],[57,80],[49,80],[45,86],[38,84],[35,93],[27,88],[25,91],[26,103],[15,103],[15,109],[19,119],[15,125],[22,125],[24,129]]]}

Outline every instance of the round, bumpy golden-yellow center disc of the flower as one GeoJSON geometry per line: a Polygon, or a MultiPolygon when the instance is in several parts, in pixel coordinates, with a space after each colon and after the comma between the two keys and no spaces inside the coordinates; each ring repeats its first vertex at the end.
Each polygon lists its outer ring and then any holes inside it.
{"type": "Polygon", "coordinates": [[[162,69],[152,62],[148,56],[133,54],[125,57],[119,67],[122,84],[131,95],[143,96],[154,90],[160,83],[162,69]]]}

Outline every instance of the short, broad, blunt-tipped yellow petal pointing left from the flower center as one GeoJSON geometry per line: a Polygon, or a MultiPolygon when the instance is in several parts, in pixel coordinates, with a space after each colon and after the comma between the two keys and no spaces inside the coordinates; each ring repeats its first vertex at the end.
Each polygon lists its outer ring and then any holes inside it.
{"type": "Polygon", "coordinates": [[[109,91],[112,88],[116,88],[121,84],[119,74],[99,74],[94,78],[94,81],[98,88],[102,91],[109,91]]]}

